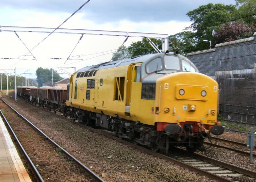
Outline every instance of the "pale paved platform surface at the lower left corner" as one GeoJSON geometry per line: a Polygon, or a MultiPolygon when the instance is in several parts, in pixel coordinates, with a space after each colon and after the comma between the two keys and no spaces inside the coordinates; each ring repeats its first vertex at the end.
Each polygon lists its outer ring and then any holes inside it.
{"type": "Polygon", "coordinates": [[[31,182],[20,156],[0,117],[0,181],[31,182]]]}

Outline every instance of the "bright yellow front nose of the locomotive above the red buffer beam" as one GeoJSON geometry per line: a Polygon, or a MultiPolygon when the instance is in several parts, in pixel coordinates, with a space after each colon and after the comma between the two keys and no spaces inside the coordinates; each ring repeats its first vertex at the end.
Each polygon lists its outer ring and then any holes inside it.
{"type": "Polygon", "coordinates": [[[156,103],[159,113],[155,115],[155,122],[179,123],[196,121],[204,124],[214,124],[217,115],[218,84],[212,78],[192,72],[178,72],[159,78],[156,82],[156,103]],[[198,84],[200,83],[200,84],[198,84]],[[167,87],[168,85],[168,87],[167,87]],[[183,96],[178,95],[184,89],[183,96]],[[201,96],[205,90],[207,95],[201,96]],[[191,111],[190,107],[195,110],[191,111]],[[169,112],[166,113],[166,108],[169,112]]]}

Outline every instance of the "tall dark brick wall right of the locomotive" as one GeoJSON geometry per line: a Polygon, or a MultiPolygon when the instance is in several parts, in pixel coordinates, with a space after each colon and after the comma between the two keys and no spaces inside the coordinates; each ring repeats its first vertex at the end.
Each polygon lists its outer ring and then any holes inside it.
{"type": "Polygon", "coordinates": [[[228,119],[256,124],[255,37],[217,44],[214,49],[188,54],[200,73],[213,77],[220,88],[220,113],[228,119]]]}

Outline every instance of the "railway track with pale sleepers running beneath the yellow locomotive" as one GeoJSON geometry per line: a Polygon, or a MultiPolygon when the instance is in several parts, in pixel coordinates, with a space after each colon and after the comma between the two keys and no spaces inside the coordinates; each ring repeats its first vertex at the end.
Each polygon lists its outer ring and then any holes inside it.
{"type": "MultiPolygon", "coordinates": [[[[31,104],[31,103],[29,103],[31,104]]],[[[31,104],[32,105],[32,104],[31,104]]],[[[35,105],[33,105],[35,106],[35,105]]],[[[43,108],[42,108],[43,109],[43,108]]],[[[47,110],[47,112],[50,112],[47,110]]],[[[56,114],[58,117],[63,117],[62,114],[56,114]]],[[[140,149],[143,152],[146,152],[150,155],[153,155],[155,157],[162,158],[166,161],[170,161],[172,163],[175,163],[181,167],[185,167],[191,171],[200,173],[204,176],[207,176],[209,178],[218,180],[218,181],[245,181],[245,182],[256,182],[256,172],[228,164],[210,157],[206,157],[200,154],[191,153],[188,154],[186,150],[183,149],[175,149],[175,153],[173,154],[161,154],[153,152],[150,149],[146,149],[144,147],[141,147],[139,145],[134,145],[130,141],[126,141],[123,139],[119,139],[118,136],[116,136],[113,132],[105,130],[105,129],[99,129],[99,128],[92,128],[85,126],[81,123],[78,123],[76,121],[73,121],[70,119],[70,122],[73,122],[75,124],[78,124],[82,127],[85,127],[89,130],[92,130],[94,132],[97,132],[101,135],[105,135],[109,138],[113,138],[119,142],[122,142],[126,145],[129,145],[133,148],[140,149]]]]}

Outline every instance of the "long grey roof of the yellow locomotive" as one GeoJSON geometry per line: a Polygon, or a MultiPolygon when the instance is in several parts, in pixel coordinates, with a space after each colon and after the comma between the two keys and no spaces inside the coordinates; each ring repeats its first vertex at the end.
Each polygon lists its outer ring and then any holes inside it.
{"type": "MultiPolygon", "coordinates": [[[[76,73],[78,72],[83,72],[83,71],[88,71],[88,70],[95,70],[95,69],[107,69],[107,68],[114,68],[114,67],[118,67],[118,66],[125,66],[125,65],[130,65],[132,63],[136,63],[136,62],[147,62],[151,59],[153,59],[154,57],[158,57],[159,55],[164,55],[165,53],[156,53],[156,54],[148,54],[148,55],[138,55],[132,58],[126,58],[126,59],[122,59],[122,60],[117,60],[117,61],[112,61],[112,62],[104,62],[104,63],[100,63],[97,65],[92,65],[92,66],[86,66],[84,68],[81,68],[79,70],[76,71],[76,73]]],[[[168,55],[174,55],[173,52],[168,53],[168,55]]],[[[177,55],[180,58],[185,58],[182,55],[177,55]]]]}

